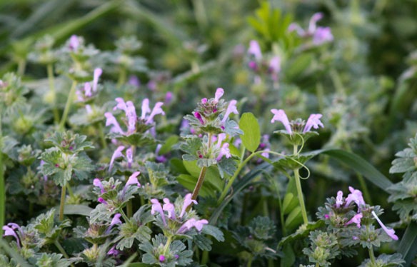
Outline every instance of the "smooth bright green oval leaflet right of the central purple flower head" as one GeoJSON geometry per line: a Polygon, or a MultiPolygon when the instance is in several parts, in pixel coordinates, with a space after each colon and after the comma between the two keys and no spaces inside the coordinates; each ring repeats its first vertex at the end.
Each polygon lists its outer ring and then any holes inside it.
{"type": "Polygon", "coordinates": [[[258,120],[250,112],[244,113],[239,121],[239,128],[243,131],[241,140],[248,151],[254,152],[261,143],[261,129],[258,120]]]}

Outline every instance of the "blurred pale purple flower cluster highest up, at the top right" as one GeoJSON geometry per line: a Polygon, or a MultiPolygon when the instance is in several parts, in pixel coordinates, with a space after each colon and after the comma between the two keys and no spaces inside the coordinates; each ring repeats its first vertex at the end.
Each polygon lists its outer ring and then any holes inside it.
{"type": "Polygon", "coordinates": [[[322,13],[313,14],[307,30],[302,29],[301,26],[296,23],[292,23],[288,26],[288,31],[297,31],[297,34],[301,37],[312,37],[313,44],[316,46],[333,41],[333,35],[331,34],[331,29],[329,27],[316,26],[317,21],[321,19],[323,19],[322,13]]]}

